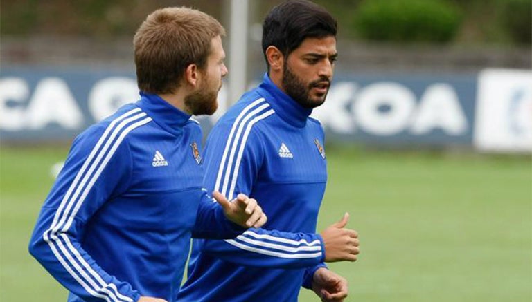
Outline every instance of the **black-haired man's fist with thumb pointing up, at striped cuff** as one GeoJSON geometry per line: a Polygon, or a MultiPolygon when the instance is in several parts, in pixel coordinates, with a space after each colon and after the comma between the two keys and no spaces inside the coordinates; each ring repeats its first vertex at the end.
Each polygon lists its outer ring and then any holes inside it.
{"type": "Polygon", "coordinates": [[[345,229],[349,220],[349,214],[344,214],[344,218],[332,224],[321,232],[325,245],[325,261],[356,261],[360,253],[358,248],[358,233],[353,229],[345,229]]]}

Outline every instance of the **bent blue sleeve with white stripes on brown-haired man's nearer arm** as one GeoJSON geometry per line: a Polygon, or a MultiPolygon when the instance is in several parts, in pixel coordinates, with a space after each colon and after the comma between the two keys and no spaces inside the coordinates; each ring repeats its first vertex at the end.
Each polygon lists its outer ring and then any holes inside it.
{"type": "Polygon", "coordinates": [[[91,216],[125,191],[131,176],[131,154],[123,135],[102,128],[93,126],[73,142],[37,218],[29,251],[84,301],[132,302],[140,298],[139,292],[107,274],[81,245],[91,216]]]}

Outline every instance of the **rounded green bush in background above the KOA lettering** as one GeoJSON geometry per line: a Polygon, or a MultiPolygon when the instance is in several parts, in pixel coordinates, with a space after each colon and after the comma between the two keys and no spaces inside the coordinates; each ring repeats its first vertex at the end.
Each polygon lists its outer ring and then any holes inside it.
{"type": "Polygon", "coordinates": [[[461,14],[441,0],[366,0],[353,21],[366,39],[446,42],[459,29],[461,14]]]}

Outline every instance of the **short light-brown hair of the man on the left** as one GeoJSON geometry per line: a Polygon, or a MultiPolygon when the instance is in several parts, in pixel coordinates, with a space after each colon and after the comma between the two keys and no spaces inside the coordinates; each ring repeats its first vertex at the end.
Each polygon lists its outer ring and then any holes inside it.
{"type": "Polygon", "coordinates": [[[225,30],[213,17],[191,8],[155,10],[133,39],[136,81],[141,91],[174,93],[186,67],[206,66],[211,41],[225,30]]]}

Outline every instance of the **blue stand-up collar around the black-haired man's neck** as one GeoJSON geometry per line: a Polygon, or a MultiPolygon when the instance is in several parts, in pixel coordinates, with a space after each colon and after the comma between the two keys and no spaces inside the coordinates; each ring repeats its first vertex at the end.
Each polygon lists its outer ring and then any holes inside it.
{"type": "Polygon", "coordinates": [[[292,99],[292,97],[281,91],[272,82],[272,79],[269,78],[267,73],[265,73],[263,82],[258,88],[265,94],[263,96],[270,106],[274,108],[276,115],[281,117],[285,122],[298,128],[303,128],[307,124],[307,119],[310,113],[312,113],[312,109],[304,108],[292,99]]]}

